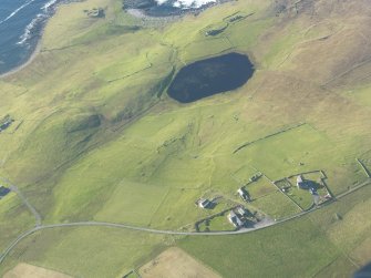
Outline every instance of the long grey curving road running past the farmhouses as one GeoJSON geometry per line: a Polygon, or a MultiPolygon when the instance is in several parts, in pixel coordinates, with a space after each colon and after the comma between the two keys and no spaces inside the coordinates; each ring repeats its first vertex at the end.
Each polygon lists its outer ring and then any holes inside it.
{"type": "MultiPolygon", "coordinates": [[[[352,189],[340,194],[337,196],[336,199],[332,199],[332,202],[327,202],[320,206],[313,207],[310,210],[302,212],[300,214],[287,217],[285,219],[278,220],[278,222],[262,222],[258,224],[257,227],[255,228],[244,228],[239,230],[233,230],[233,231],[205,231],[205,233],[197,233],[197,231],[177,231],[177,230],[163,230],[163,229],[153,229],[153,228],[145,228],[145,227],[137,227],[137,226],[132,226],[132,225],[126,225],[126,224],[117,224],[117,223],[105,223],[105,222],[76,222],[76,223],[63,223],[63,224],[51,224],[51,225],[37,225],[34,228],[21,234],[14,241],[12,241],[8,248],[1,254],[0,256],[0,265],[2,261],[7,258],[9,253],[25,237],[40,231],[44,229],[51,229],[51,228],[64,228],[64,227],[111,227],[111,228],[122,228],[122,229],[130,229],[130,230],[137,230],[137,231],[143,231],[143,233],[152,233],[152,234],[159,234],[159,235],[179,235],[179,236],[230,236],[230,235],[241,235],[241,234],[248,234],[257,230],[261,230],[271,226],[280,225],[297,218],[300,218],[307,214],[310,214],[315,210],[321,209],[322,207],[326,207],[330,204],[332,204],[334,200],[340,199],[346,197],[347,195],[367,186],[370,185],[371,181],[368,179],[367,182],[353,187],[352,189]]],[[[19,195],[20,197],[22,196],[19,195]]],[[[24,196],[23,196],[24,197],[24,196]]],[[[25,199],[27,200],[27,199],[25,199]]],[[[28,202],[27,202],[28,203],[28,202]]],[[[30,206],[32,208],[32,206],[30,206]]],[[[30,208],[29,207],[29,208],[30,208]]],[[[41,219],[41,218],[40,218],[41,219]]],[[[38,223],[38,219],[37,219],[38,223]]]]}

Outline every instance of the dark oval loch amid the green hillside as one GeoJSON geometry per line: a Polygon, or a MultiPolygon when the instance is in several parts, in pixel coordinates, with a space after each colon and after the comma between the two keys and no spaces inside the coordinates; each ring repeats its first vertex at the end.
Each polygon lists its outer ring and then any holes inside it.
{"type": "Polygon", "coordinates": [[[167,93],[181,103],[195,102],[243,86],[254,71],[248,56],[239,53],[197,61],[176,74],[167,93]]]}

